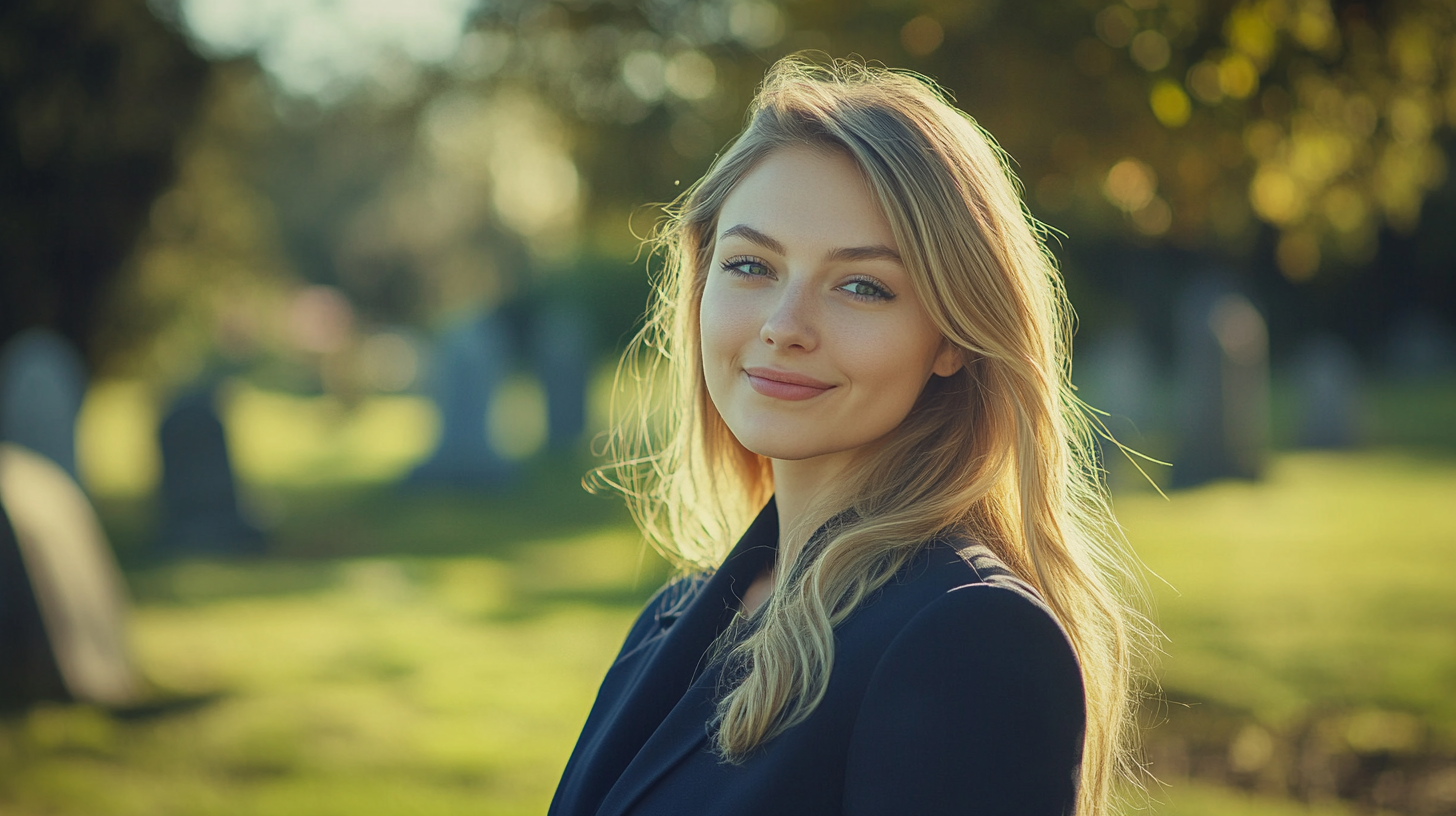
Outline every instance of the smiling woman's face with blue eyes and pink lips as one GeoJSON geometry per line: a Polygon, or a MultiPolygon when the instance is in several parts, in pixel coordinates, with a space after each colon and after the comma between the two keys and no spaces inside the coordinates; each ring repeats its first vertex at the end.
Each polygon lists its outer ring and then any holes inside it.
{"type": "Polygon", "coordinates": [[[960,369],[837,152],[780,149],[734,188],[700,321],[713,405],[770,459],[853,455],[906,418],[932,373],[960,369]]]}

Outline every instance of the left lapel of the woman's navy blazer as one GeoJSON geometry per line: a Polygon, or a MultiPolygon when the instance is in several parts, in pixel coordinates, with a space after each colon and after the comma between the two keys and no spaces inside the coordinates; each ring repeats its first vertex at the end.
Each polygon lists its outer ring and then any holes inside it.
{"type": "MultiPolygon", "coordinates": [[[[655,643],[645,643],[626,657],[645,662],[642,673],[601,723],[590,752],[594,768],[578,771],[584,778],[616,780],[594,810],[598,816],[629,807],[706,739],[705,723],[716,694],[716,672],[705,672],[706,653],[737,613],[738,596],[773,561],[778,542],[779,517],[770,500],[724,565],[686,603],[670,605],[658,615],[665,631],[652,638],[655,643]],[[613,772],[617,769],[620,775],[613,772]]],[[[578,801],[593,799],[587,794],[578,801]]]]}

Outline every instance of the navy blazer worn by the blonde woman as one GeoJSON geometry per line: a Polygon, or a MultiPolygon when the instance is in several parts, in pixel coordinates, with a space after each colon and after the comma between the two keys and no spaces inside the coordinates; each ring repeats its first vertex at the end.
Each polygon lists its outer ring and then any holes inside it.
{"type": "Polygon", "coordinates": [[[705,653],[778,535],[770,501],[718,571],[648,603],[553,816],[1075,810],[1085,710],[1072,646],[1031,587],[964,542],[927,546],[834,631],[828,692],[808,720],[740,765],[719,761],[705,653]]]}

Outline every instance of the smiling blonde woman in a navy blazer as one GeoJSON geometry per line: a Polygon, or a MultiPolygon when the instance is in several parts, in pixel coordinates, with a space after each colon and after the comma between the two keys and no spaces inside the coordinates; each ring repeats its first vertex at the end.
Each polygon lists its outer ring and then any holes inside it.
{"type": "Polygon", "coordinates": [[[660,239],[628,360],[667,392],[603,472],[692,574],[552,813],[1107,813],[1140,618],[990,138],[914,77],[789,58],[660,239]]]}

